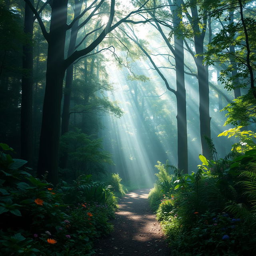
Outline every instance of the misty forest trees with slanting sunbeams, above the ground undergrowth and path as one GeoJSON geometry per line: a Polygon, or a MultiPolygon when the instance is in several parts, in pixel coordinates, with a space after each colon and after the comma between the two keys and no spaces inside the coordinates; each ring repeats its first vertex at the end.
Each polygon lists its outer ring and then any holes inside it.
{"type": "Polygon", "coordinates": [[[224,122],[253,123],[234,114],[254,88],[253,1],[122,4],[1,1],[1,138],[54,183],[152,183],[158,160],[188,172],[211,157],[204,136],[223,157],[224,122]]]}

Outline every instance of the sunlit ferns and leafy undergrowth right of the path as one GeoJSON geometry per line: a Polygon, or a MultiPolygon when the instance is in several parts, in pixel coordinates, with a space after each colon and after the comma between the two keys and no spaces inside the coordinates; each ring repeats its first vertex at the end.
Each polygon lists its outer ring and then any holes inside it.
{"type": "Polygon", "coordinates": [[[174,179],[158,163],[159,180],[150,192],[149,202],[154,207],[158,204],[157,218],[172,254],[255,255],[254,132],[240,128],[220,134],[246,141],[238,148],[240,155],[233,154],[233,158],[230,154],[214,161],[199,155],[202,163],[197,172],[189,175],[176,170],[174,179]],[[172,180],[175,186],[163,194],[161,184],[166,187],[172,180]]]}

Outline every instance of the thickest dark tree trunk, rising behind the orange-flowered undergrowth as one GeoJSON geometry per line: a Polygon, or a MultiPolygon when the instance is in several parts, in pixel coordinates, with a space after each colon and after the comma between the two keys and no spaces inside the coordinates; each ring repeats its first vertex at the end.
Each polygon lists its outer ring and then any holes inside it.
{"type": "Polygon", "coordinates": [[[58,182],[58,147],[62,84],[65,74],[64,47],[68,0],[51,2],[52,15],[48,36],[46,88],[40,136],[38,176],[48,171],[48,181],[58,182]]]}

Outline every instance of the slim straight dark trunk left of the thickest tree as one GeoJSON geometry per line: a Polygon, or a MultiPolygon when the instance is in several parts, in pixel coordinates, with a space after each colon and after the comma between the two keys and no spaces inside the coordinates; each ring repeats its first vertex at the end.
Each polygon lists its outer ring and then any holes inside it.
{"type": "MultiPolygon", "coordinates": [[[[34,4],[34,0],[31,0],[34,4]]],[[[32,95],[33,95],[33,12],[25,4],[24,33],[27,37],[23,45],[22,56],[22,97],[21,97],[21,119],[20,119],[20,142],[21,158],[28,161],[28,165],[33,165],[33,136],[32,136],[32,95]]]]}

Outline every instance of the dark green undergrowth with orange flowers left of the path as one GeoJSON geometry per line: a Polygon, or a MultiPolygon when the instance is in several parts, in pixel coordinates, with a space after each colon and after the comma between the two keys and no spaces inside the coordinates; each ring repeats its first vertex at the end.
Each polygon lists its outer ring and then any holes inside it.
{"type": "MultiPolygon", "coordinates": [[[[13,152],[8,145],[0,148],[0,253],[91,255],[95,238],[112,230],[112,186],[82,175],[72,184],[53,187],[21,170],[26,161],[4,153],[13,152]]],[[[114,186],[120,184],[118,174],[113,180],[114,186]]]]}

